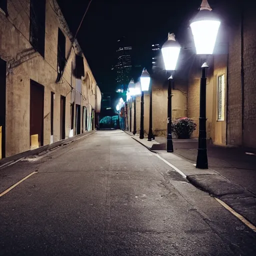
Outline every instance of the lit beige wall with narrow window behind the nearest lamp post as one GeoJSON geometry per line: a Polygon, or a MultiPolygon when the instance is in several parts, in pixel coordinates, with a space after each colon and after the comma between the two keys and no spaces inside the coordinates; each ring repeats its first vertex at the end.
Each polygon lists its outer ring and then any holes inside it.
{"type": "MultiPolygon", "coordinates": [[[[226,116],[224,121],[217,121],[217,76],[224,74],[226,85],[226,54],[207,56],[206,59],[201,59],[195,55],[195,60],[189,73],[187,97],[188,117],[196,123],[196,129],[192,136],[198,137],[199,132],[200,66],[203,61],[206,61],[209,66],[206,71],[206,134],[207,138],[211,139],[213,143],[224,145],[226,144],[226,116]]],[[[226,115],[226,111],[224,111],[224,115],[226,115]]]]}

